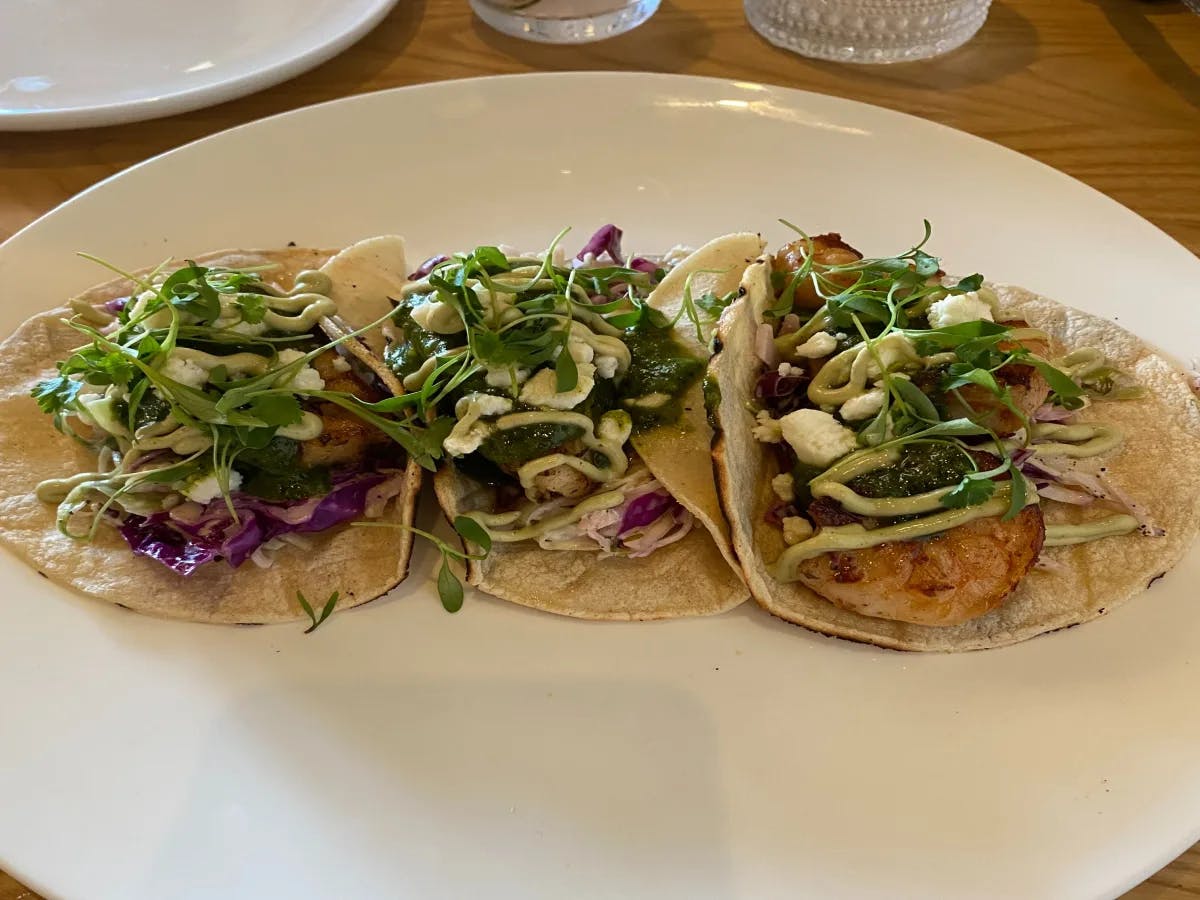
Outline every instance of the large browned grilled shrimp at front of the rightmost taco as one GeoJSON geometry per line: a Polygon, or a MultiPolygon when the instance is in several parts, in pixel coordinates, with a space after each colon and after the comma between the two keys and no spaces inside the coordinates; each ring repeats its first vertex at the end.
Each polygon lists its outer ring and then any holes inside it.
{"type": "Polygon", "coordinates": [[[926,540],[822,553],[800,581],[842,608],[917,625],[956,625],[991,612],[1042,552],[1042,509],[977,518],[926,540]]]}

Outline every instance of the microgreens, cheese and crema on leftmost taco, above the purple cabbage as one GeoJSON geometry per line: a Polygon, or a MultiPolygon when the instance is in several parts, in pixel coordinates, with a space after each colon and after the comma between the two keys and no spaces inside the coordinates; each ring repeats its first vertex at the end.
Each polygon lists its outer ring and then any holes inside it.
{"type": "MultiPolygon", "coordinates": [[[[282,460],[288,455],[281,448],[294,450],[296,442],[318,437],[324,422],[305,401],[331,402],[355,414],[427,468],[440,456],[422,428],[389,415],[386,401],[367,403],[324,390],[311,377],[307,386],[298,383],[317,356],[349,337],[328,343],[314,337],[319,319],[337,311],[324,272],[300,272],[290,290],[281,290],[263,281],[265,268],[188,262],[138,277],[89,258],[128,278],[136,293],[103,306],[73,300],[66,323],[88,343],[58,364],[56,377],[32,390],[59,431],[97,454],[95,472],[36,487],[38,499],[58,504],[58,527],[67,536],[91,539],[114,508],[140,516],[172,509],[203,478],[215,479],[238,521],[230,499],[234,463],[270,455],[282,460]],[[179,380],[185,373],[186,384],[179,380]],[[84,509],[94,515],[79,532],[72,521],[84,509]]],[[[328,490],[328,479],[274,466],[266,472],[277,478],[265,481],[284,491],[262,494],[268,499],[328,490]]]]}

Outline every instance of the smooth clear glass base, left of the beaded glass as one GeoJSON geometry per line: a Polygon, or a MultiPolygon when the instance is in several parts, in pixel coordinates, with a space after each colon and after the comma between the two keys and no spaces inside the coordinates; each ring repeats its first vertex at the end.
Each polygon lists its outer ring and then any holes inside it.
{"type": "Polygon", "coordinates": [[[484,22],[514,37],[542,43],[587,43],[629,31],[660,0],[470,0],[484,22]]]}

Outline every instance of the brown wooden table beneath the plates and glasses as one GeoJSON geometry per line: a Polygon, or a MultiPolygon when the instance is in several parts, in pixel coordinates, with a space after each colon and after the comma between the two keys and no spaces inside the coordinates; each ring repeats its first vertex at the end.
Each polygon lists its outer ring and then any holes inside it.
{"type": "MultiPolygon", "coordinates": [[[[664,0],[641,29],[588,47],[504,37],[466,0],[401,0],[355,47],[260,94],[137,125],[0,134],[0,240],[107,175],[264,115],[402,84],[563,70],[760,80],[935,119],[1074,175],[1200,252],[1200,16],[1177,0],[996,0],[966,47],[884,67],[775,49],[736,0],[664,0]]],[[[35,896],[0,872],[0,900],[35,896]]],[[[1200,896],[1200,845],[1126,896],[1200,896]]]]}

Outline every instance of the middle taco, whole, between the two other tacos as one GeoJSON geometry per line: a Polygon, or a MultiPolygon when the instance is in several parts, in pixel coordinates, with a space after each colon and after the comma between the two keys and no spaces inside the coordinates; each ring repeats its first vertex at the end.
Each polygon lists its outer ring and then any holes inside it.
{"type": "Polygon", "coordinates": [[[572,260],[557,241],[430,260],[385,359],[444,436],[443,510],[487,535],[472,584],[593,619],[721,612],[749,593],[713,480],[701,344],[762,241],[626,260],[620,236],[607,226],[572,260]]]}

